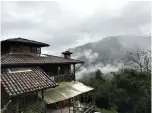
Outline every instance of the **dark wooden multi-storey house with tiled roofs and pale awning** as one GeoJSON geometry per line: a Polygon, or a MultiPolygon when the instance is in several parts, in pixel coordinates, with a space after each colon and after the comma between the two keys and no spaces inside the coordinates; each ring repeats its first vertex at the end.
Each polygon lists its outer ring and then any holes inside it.
{"type": "Polygon", "coordinates": [[[7,113],[26,108],[47,112],[47,105],[64,100],[70,106],[72,98],[93,90],[76,81],[75,71],[83,61],[71,59],[70,51],[63,52],[63,57],[42,54],[41,48],[48,46],[23,38],[1,41],[1,107],[7,105],[7,113]]]}

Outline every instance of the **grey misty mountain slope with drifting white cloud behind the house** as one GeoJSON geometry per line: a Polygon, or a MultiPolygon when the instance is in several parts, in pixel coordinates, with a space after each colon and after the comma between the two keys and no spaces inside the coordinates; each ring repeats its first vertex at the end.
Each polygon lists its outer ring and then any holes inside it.
{"type": "MultiPolygon", "coordinates": [[[[127,52],[150,50],[150,36],[110,36],[98,42],[70,48],[73,57],[85,61],[85,68],[118,67],[127,52]]],[[[91,68],[89,68],[90,70],[91,68]]]]}

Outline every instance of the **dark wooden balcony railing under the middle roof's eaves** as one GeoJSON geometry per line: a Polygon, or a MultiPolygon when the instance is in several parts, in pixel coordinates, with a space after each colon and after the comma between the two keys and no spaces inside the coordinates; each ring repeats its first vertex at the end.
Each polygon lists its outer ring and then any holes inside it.
{"type": "Polygon", "coordinates": [[[74,80],[74,74],[63,74],[63,75],[57,75],[57,76],[51,76],[52,80],[55,82],[65,82],[65,81],[73,81],[74,80]]]}

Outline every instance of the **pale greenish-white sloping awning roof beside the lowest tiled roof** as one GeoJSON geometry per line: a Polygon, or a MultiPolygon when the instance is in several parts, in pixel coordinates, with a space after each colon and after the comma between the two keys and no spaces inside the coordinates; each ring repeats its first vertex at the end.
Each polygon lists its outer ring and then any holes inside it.
{"type": "MultiPolygon", "coordinates": [[[[50,88],[44,92],[44,101],[47,104],[56,103],[91,90],[93,90],[92,87],[86,86],[78,81],[61,82],[59,86],[54,89],[50,88]]],[[[38,93],[38,96],[41,97],[41,93],[38,93]]]]}

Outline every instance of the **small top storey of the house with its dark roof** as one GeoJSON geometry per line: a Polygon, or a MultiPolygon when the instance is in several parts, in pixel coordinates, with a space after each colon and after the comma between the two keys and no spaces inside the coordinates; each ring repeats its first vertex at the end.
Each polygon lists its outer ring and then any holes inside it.
{"type": "Polygon", "coordinates": [[[1,41],[1,53],[35,53],[41,54],[41,47],[47,47],[48,44],[27,40],[23,38],[14,38],[1,41]]]}

